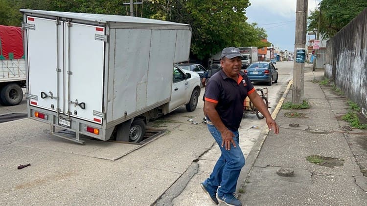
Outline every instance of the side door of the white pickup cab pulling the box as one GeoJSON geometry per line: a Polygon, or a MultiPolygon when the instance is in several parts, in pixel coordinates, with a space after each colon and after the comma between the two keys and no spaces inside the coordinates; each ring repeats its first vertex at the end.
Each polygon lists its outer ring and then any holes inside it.
{"type": "Polygon", "coordinates": [[[188,81],[185,79],[185,73],[180,68],[174,66],[172,95],[169,102],[169,112],[184,105],[187,99],[187,90],[188,81]]]}

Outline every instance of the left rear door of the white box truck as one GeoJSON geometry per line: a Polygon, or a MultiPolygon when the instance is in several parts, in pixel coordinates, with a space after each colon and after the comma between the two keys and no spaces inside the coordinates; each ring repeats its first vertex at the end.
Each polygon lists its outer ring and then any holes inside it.
{"type": "Polygon", "coordinates": [[[27,16],[29,103],[48,110],[64,110],[63,24],[27,16]]]}

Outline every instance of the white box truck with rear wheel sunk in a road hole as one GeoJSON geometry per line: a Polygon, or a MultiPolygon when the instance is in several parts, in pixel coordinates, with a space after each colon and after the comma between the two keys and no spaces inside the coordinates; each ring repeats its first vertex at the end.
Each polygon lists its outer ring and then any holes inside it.
{"type": "Polygon", "coordinates": [[[130,16],[21,9],[28,117],[47,133],[139,142],[145,124],[186,105],[200,77],[187,61],[191,27],[130,16]],[[56,129],[55,129],[56,128],[56,129]]]}

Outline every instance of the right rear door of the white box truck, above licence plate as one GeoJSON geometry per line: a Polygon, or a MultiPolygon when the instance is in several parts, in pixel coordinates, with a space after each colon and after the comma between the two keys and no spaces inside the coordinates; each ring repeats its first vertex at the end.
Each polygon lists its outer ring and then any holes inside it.
{"type": "Polygon", "coordinates": [[[65,105],[70,116],[102,124],[105,27],[65,22],[65,105]]]}

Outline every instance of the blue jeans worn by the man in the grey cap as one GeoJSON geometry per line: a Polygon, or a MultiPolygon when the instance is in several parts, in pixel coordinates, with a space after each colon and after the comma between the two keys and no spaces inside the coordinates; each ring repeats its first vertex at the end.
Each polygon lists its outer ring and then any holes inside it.
{"type": "Polygon", "coordinates": [[[236,191],[237,180],[240,175],[241,168],[245,165],[245,157],[239,146],[239,134],[238,131],[232,131],[235,137],[233,140],[236,142],[236,147],[231,144],[230,150],[226,150],[222,147],[222,135],[215,128],[214,125],[207,124],[209,132],[214,137],[215,141],[221,149],[221,156],[214,166],[213,172],[210,177],[204,181],[204,185],[210,190],[209,192],[215,192],[218,189],[218,195],[232,194],[236,191]]]}

